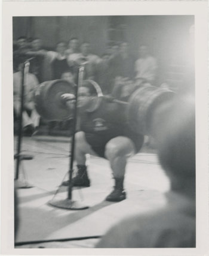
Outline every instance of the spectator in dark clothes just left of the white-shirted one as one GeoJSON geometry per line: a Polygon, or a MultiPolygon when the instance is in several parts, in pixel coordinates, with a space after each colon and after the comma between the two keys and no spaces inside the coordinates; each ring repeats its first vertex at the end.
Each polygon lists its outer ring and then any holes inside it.
{"type": "Polygon", "coordinates": [[[134,78],[134,57],[129,52],[127,42],[122,42],[119,46],[119,52],[112,59],[113,77],[134,78]]]}

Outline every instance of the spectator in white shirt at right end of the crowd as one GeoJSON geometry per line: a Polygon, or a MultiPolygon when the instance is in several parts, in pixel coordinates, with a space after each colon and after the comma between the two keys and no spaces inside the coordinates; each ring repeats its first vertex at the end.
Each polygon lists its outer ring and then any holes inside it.
{"type": "Polygon", "coordinates": [[[149,55],[147,46],[140,46],[140,58],[135,62],[136,80],[138,84],[154,85],[156,79],[156,59],[149,55]]]}

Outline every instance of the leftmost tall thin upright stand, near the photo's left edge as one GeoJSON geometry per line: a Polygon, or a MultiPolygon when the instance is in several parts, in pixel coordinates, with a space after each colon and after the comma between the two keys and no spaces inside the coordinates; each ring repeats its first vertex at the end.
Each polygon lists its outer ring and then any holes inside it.
{"type": "MultiPolygon", "coordinates": [[[[33,159],[32,155],[27,154],[21,154],[21,140],[23,137],[23,111],[24,111],[24,86],[25,86],[25,78],[27,74],[29,73],[29,67],[30,67],[30,59],[27,59],[26,62],[24,62],[24,68],[21,69],[21,105],[20,105],[20,123],[19,123],[19,134],[18,134],[18,143],[17,143],[17,153],[14,155],[14,159],[17,159],[16,162],[16,188],[32,188],[32,185],[29,185],[29,183],[26,182],[26,180],[22,181],[19,180],[19,169],[20,169],[20,161],[22,160],[30,160],[33,159]]],[[[24,170],[23,170],[24,174],[24,170]]]]}

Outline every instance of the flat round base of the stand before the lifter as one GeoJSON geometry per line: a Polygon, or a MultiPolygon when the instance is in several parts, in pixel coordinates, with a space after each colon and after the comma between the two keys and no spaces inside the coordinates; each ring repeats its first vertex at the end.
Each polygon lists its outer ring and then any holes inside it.
{"type": "Polygon", "coordinates": [[[48,204],[54,207],[67,209],[67,210],[85,210],[89,208],[89,206],[86,206],[80,201],[72,201],[70,199],[51,200],[48,202],[48,204]]]}

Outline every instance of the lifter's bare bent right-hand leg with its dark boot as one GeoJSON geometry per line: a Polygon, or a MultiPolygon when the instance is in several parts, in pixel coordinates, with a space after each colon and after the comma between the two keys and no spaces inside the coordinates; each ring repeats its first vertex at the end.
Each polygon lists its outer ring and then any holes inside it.
{"type": "Polygon", "coordinates": [[[127,137],[116,137],[106,144],[106,158],[110,161],[110,167],[115,179],[115,188],[107,201],[121,201],[125,199],[124,176],[127,159],[136,153],[134,143],[127,137]]]}

